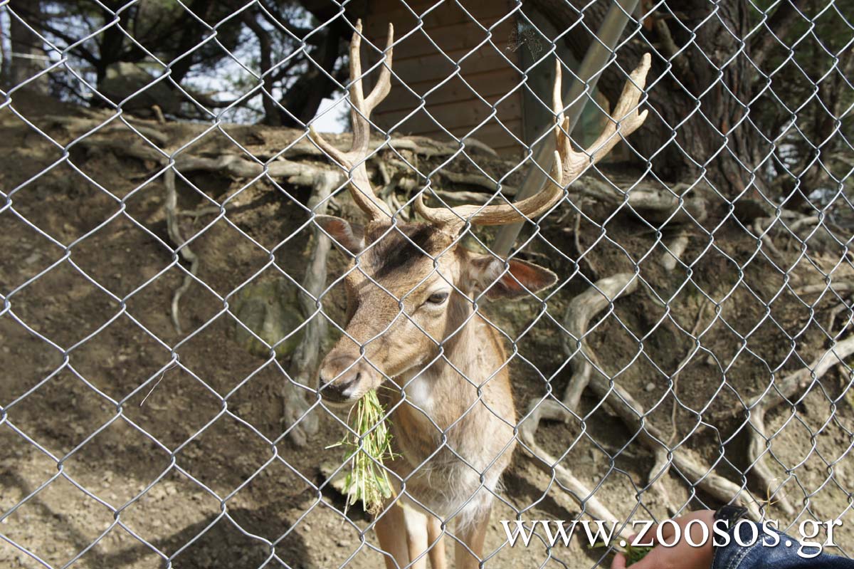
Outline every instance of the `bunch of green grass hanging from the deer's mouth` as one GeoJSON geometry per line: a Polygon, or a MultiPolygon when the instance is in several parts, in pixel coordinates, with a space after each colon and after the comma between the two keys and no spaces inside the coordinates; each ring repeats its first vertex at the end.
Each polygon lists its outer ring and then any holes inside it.
{"type": "Polygon", "coordinates": [[[389,471],[383,468],[383,461],[395,455],[391,451],[391,431],[384,416],[385,408],[379,402],[377,391],[368,391],[350,411],[352,431],[332,445],[344,447],[344,460],[350,463],[350,472],[344,479],[345,513],[347,507],[361,500],[365,511],[376,515],[383,510],[383,500],[391,497],[391,480],[389,471]]]}

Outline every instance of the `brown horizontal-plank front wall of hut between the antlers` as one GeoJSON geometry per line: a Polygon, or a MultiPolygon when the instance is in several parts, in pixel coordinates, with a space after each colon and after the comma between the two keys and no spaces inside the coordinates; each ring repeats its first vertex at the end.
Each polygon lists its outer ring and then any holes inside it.
{"type": "MultiPolygon", "coordinates": [[[[383,130],[451,141],[445,128],[458,138],[477,138],[502,155],[520,155],[524,146],[513,136],[523,138],[522,75],[512,67],[518,65],[518,51],[508,49],[515,28],[515,18],[506,17],[510,5],[460,0],[461,8],[452,0],[439,1],[368,3],[367,38],[384,46],[389,21],[395,38],[402,38],[395,44],[394,61],[400,80],[392,79],[391,93],[377,107],[374,121],[383,130]]],[[[363,57],[377,61],[376,52],[363,57]]]]}

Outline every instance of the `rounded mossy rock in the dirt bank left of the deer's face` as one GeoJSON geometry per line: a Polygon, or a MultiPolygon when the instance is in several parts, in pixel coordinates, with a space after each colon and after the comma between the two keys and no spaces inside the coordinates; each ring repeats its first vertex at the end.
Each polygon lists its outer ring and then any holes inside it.
{"type": "MultiPolygon", "coordinates": [[[[244,286],[234,297],[232,314],[270,345],[279,342],[305,322],[297,304],[298,289],[284,279],[260,279],[244,286]]],[[[270,349],[237,322],[235,339],[254,355],[267,357],[270,349]]],[[[276,354],[287,355],[300,343],[304,327],[276,346],[276,354]]]]}

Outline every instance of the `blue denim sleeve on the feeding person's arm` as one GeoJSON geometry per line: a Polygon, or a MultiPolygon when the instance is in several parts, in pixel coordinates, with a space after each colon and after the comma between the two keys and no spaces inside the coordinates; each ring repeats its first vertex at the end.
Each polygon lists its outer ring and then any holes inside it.
{"type": "Polygon", "coordinates": [[[802,546],[797,539],[776,531],[779,539],[774,544],[774,537],[764,534],[761,525],[753,528],[757,529],[756,538],[751,524],[729,528],[729,543],[715,548],[711,569],[854,569],[854,560],[802,546]],[[740,545],[735,539],[736,531],[741,543],[752,545],[740,545]]]}

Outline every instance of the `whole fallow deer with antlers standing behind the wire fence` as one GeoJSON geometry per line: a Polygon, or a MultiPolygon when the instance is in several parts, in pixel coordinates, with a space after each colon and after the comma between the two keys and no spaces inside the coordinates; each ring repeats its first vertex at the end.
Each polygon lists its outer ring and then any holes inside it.
{"type": "Polygon", "coordinates": [[[551,286],[551,271],[518,259],[475,253],[459,245],[471,226],[535,218],[553,208],[570,185],[615,144],[640,126],[640,95],[649,56],[631,74],[611,119],[587,150],[576,152],[564,121],[560,64],[553,89],[557,150],[551,179],[532,197],[510,204],[430,208],[421,194],[415,209],[424,222],[401,222],[371,189],[371,111],[390,91],[393,28],[377,85],[366,97],[360,63],[361,24],[350,44],[353,142],[336,149],[312,138],[349,173],[365,226],[330,216],[314,220],[353,257],[344,278],[348,296],[345,334],[319,369],[326,402],[352,405],[379,390],[391,411],[395,459],[386,464],[395,497],[375,529],[386,566],[445,567],[442,535],[456,523],[456,566],[477,567],[494,492],[511,460],[517,418],[508,360],[500,334],[478,312],[483,298],[518,298],[551,286]]]}

